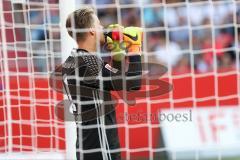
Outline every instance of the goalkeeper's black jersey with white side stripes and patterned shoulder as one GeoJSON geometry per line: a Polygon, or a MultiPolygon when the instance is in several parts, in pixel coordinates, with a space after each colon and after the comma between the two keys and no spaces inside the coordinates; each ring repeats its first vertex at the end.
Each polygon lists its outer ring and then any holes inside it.
{"type": "Polygon", "coordinates": [[[140,89],[141,56],[129,56],[128,63],[113,60],[108,64],[77,49],[62,67],[66,92],[75,106],[76,120],[81,122],[77,126],[77,159],[120,160],[116,99],[110,91],[140,89]]]}

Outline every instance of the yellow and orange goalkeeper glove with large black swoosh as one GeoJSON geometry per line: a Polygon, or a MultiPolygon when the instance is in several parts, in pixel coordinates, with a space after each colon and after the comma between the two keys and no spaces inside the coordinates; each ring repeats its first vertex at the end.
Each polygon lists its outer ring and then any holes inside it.
{"type": "Polygon", "coordinates": [[[123,30],[123,40],[128,45],[128,54],[140,54],[143,30],[139,27],[126,27],[123,30]]]}

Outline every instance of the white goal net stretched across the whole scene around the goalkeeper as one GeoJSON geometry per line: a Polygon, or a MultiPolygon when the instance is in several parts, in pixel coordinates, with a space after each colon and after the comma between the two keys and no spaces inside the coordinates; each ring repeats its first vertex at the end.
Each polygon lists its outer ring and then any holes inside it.
{"type": "Polygon", "coordinates": [[[68,14],[86,6],[104,27],[143,28],[142,63],[161,72],[112,93],[122,159],[240,159],[237,0],[2,0],[0,159],[76,159],[76,125],[56,111],[67,97],[49,77],[76,47],[68,14]]]}

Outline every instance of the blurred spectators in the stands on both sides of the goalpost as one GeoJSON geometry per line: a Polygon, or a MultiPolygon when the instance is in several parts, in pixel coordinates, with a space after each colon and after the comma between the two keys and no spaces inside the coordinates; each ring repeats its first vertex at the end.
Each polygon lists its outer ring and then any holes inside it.
{"type": "MultiPolygon", "coordinates": [[[[51,40],[51,43],[54,43],[52,50],[57,52],[60,49],[57,43],[60,39],[59,2],[49,0],[49,6],[37,4],[45,1],[29,2],[35,5],[31,4],[28,6],[31,8],[28,8],[16,3],[12,5],[14,8],[11,8],[5,3],[3,8],[6,11],[15,10],[15,24],[26,24],[27,21],[29,25],[28,28],[16,25],[17,34],[10,29],[6,33],[12,35],[8,36],[9,40],[13,40],[13,36],[22,41],[31,40],[35,69],[46,72],[47,57],[46,53],[41,52],[46,50],[45,43],[51,40]],[[24,12],[28,12],[28,15],[24,15],[24,12]]],[[[238,4],[220,0],[166,0],[164,3],[161,0],[120,0],[118,3],[117,7],[114,0],[76,0],[76,8],[82,4],[96,5],[99,18],[105,27],[119,21],[124,26],[145,27],[145,51],[153,56],[150,60],[154,59],[172,67],[172,74],[190,73],[191,69],[196,73],[212,72],[214,61],[218,71],[236,69],[237,56],[234,47],[238,45],[236,37],[239,29],[235,27],[240,20],[238,4]],[[145,7],[141,8],[141,5],[145,7]],[[234,7],[237,7],[236,13],[233,13],[234,7]],[[167,48],[169,54],[165,56],[167,48]],[[194,54],[193,61],[190,52],[194,54]],[[194,67],[191,68],[191,65],[194,67]]],[[[11,13],[8,14],[10,16],[11,13]]]]}

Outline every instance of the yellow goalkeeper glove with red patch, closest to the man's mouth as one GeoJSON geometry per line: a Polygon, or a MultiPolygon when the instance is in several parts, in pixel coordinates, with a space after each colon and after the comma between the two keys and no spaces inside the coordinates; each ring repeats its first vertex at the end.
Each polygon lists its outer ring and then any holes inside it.
{"type": "Polygon", "coordinates": [[[126,55],[126,45],[123,41],[122,32],[124,27],[119,24],[111,24],[107,27],[105,33],[105,43],[107,50],[111,51],[113,59],[121,61],[126,55]]]}

